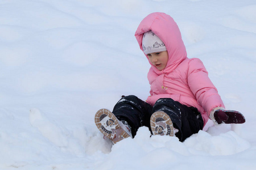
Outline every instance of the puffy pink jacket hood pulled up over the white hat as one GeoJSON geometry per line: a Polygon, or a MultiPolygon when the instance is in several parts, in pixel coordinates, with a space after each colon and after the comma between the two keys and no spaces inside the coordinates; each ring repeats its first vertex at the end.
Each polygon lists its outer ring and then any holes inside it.
{"type": "MultiPolygon", "coordinates": [[[[154,12],[149,14],[142,20],[137,28],[137,31],[135,32],[135,37],[142,51],[143,34],[144,32],[150,30],[164,42],[168,52],[168,62],[166,68],[159,71],[150,63],[151,69],[153,69],[158,75],[171,73],[182,61],[184,61],[184,59],[187,58],[187,52],[184,42],[181,39],[179,27],[170,15],[162,12],[154,12]]],[[[150,62],[149,59],[148,62],[150,62]]]]}

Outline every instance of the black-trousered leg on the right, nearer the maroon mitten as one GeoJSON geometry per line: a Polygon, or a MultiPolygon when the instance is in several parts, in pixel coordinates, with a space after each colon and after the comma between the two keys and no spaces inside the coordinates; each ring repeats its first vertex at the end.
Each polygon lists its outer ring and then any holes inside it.
{"type": "Polygon", "coordinates": [[[174,128],[179,130],[175,135],[180,141],[203,129],[203,118],[196,108],[189,108],[170,98],[164,98],[156,101],[152,109],[152,112],[159,111],[170,116],[174,128]]]}

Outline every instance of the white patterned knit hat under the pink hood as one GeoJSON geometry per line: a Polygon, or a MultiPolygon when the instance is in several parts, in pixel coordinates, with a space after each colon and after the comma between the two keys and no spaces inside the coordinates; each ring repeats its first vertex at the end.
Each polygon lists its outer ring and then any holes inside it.
{"type": "Polygon", "coordinates": [[[145,32],[142,38],[142,48],[145,54],[166,51],[166,45],[151,30],[145,32]]]}

